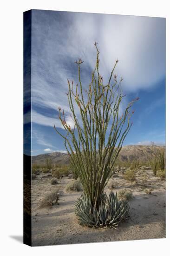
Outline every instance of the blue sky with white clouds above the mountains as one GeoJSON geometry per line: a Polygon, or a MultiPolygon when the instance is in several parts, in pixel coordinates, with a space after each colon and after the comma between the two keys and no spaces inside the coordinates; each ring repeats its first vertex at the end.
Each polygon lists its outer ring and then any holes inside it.
{"type": "Polygon", "coordinates": [[[95,66],[98,42],[100,73],[107,83],[116,73],[127,94],[121,108],[134,99],[133,126],[124,145],[165,144],[165,19],[94,13],[32,11],[32,155],[65,152],[58,107],[67,122],[67,78],[78,79],[74,61],[81,57],[84,88],[95,66]]]}

